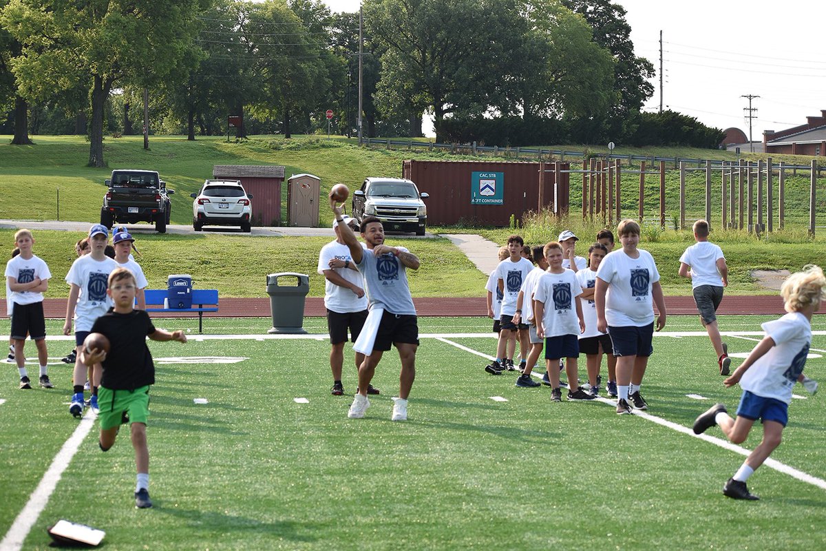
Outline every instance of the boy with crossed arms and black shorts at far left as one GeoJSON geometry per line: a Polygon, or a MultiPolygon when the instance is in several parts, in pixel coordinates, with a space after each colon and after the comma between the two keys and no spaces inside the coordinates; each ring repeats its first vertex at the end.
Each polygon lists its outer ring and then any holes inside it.
{"type": "Polygon", "coordinates": [[[37,359],[40,362],[40,386],[52,388],[49,380],[49,354],[46,351],[46,325],[43,314],[43,293],[49,288],[51,272],[49,266],[32,252],[35,240],[30,230],[18,230],[14,242],[20,254],[6,264],[6,283],[12,299],[12,339],[17,371],[20,373],[20,388],[31,388],[26,371],[23,345],[26,335],[35,341],[37,359]]]}

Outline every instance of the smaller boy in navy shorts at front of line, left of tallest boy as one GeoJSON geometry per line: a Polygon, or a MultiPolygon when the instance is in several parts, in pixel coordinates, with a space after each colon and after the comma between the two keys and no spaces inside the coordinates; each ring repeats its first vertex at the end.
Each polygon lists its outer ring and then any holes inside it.
{"type": "Polygon", "coordinates": [[[593,400],[582,387],[572,390],[576,384],[577,358],[579,357],[578,335],[585,330],[582,321],[582,305],[577,297],[582,294],[582,287],[577,283],[577,274],[563,268],[563,247],[552,241],[545,245],[545,259],[548,271],[545,272],[534,292],[534,320],[536,336],[545,339],[545,368],[551,382],[551,400],[562,401],[559,389],[560,359],[565,361],[565,373],[571,387],[568,388],[568,400],[593,400]]]}

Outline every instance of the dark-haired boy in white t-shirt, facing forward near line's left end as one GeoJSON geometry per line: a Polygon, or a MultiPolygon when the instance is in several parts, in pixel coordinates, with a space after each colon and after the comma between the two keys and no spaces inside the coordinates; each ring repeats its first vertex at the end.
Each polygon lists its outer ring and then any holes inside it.
{"type": "Polygon", "coordinates": [[[520,235],[510,235],[508,237],[508,254],[510,257],[502,260],[496,266],[496,282],[502,292],[502,309],[499,316],[499,344],[496,346],[496,359],[485,366],[485,371],[491,375],[501,374],[502,371],[515,371],[513,358],[506,356],[506,345],[510,333],[517,335],[520,341],[520,352],[523,358],[526,357],[528,342],[528,324],[514,323],[516,314],[516,299],[519,297],[522,282],[534,269],[534,263],[522,256],[522,247],[525,241],[520,235]]]}

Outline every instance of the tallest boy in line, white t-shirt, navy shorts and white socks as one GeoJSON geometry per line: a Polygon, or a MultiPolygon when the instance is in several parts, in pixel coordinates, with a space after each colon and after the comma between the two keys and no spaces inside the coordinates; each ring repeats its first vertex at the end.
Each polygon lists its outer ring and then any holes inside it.
{"type": "Polygon", "coordinates": [[[596,272],[596,329],[611,337],[617,357],[617,415],[648,409],[640,387],[653,352],[653,305],[657,305],[657,331],[666,325],[660,273],[647,250],[638,249],[639,224],[624,220],[617,226],[622,249],[607,254],[596,272]]]}

